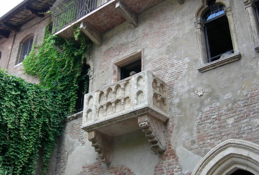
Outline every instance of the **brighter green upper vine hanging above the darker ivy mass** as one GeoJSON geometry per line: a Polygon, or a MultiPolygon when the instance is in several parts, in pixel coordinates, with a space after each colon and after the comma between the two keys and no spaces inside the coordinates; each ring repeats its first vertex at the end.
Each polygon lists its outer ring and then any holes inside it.
{"type": "Polygon", "coordinates": [[[78,28],[75,30],[76,41],[63,41],[57,36],[52,36],[46,29],[42,46],[35,50],[33,46],[30,54],[23,61],[24,71],[40,78],[40,85],[59,92],[60,98],[67,100],[69,111],[73,112],[76,101],[76,90],[78,88],[79,76],[85,50],[91,46],[89,41],[80,34],[78,28]],[[63,43],[60,54],[55,43],[63,43]]]}

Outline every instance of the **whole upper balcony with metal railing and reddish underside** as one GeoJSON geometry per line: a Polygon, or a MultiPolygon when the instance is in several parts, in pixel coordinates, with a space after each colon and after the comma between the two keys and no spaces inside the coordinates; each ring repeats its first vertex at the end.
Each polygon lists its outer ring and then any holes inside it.
{"type": "MultiPolygon", "coordinates": [[[[82,32],[99,46],[102,34],[125,21],[137,27],[138,14],[163,1],[165,0],[57,0],[51,8],[53,33],[69,39],[73,37],[73,28],[80,26],[82,32]]],[[[183,0],[177,1],[183,3],[183,0]]]]}

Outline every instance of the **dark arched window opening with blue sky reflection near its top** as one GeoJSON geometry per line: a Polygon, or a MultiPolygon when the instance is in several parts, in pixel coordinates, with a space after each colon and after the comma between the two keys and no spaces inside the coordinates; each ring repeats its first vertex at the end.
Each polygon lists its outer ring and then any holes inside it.
{"type": "Polygon", "coordinates": [[[224,12],[225,7],[215,2],[216,0],[209,1],[209,10],[203,15],[207,63],[220,59],[224,54],[233,53],[228,18],[224,12]]]}

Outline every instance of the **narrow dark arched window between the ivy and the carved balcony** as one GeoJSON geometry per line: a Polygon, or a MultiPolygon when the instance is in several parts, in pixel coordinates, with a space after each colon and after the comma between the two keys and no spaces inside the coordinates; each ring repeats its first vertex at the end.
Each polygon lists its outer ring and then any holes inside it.
{"type": "Polygon", "coordinates": [[[81,75],[79,77],[77,100],[75,106],[75,113],[80,112],[84,108],[84,95],[89,92],[89,75],[90,67],[87,64],[83,65],[81,75]]]}

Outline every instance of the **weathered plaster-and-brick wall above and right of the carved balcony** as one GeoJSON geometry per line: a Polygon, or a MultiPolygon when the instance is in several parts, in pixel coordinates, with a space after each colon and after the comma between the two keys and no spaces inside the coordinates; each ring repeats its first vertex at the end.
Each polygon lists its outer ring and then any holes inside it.
{"type": "Polygon", "coordinates": [[[102,45],[89,53],[95,66],[93,90],[111,84],[114,62],[142,48],[144,69],[168,83],[168,147],[159,155],[155,174],[190,173],[205,153],[229,138],[259,143],[258,53],[243,2],[231,0],[241,59],[204,73],[197,71],[194,27],[200,5],[198,0],[165,1],[140,14],[137,28],[125,22],[104,34],[102,45]],[[195,94],[200,87],[205,90],[201,97],[195,94]]]}

